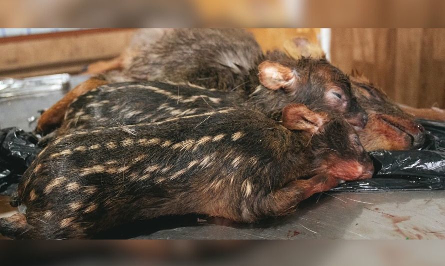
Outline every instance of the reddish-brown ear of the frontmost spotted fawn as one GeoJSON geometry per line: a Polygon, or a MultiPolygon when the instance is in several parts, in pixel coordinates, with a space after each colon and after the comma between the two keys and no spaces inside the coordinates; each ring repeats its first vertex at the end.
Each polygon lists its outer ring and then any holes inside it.
{"type": "Polygon", "coordinates": [[[315,113],[304,104],[288,104],[282,112],[282,124],[289,130],[302,130],[317,133],[327,121],[326,113],[315,113]]]}

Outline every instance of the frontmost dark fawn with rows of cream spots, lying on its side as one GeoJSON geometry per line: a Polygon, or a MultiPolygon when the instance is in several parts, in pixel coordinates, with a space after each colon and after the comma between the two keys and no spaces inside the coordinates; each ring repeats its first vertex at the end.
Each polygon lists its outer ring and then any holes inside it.
{"type": "Polygon", "coordinates": [[[221,108],[155,123],[78,130],[27,169],[0,219],[16,239],[93,238],[117,225],[198,213],[254,222],[291,212],[372,163],[342,118],[289,104],[282,122],[221,108]],[[106,154],[106,156],[104,156],[106,154]]]}

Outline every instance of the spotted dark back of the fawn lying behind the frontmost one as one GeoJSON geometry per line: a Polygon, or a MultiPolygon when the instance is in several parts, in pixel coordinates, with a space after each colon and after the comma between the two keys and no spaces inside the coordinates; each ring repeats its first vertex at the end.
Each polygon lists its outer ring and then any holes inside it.
{"type": "Polygon", "coordinates": [[[85,128],[152,123],[243,105],[234,94],[191,84],[113,83],[72,102],[57,135],[85,128]]]}

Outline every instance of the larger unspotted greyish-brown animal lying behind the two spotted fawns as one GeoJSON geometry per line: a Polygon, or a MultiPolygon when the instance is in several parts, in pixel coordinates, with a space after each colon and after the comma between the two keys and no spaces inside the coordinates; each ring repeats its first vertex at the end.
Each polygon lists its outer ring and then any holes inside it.
{"type": "Polygon", "coordinates": [[[292,59],[284,52],[262,54],[258,43],[242,29],[145,29],[135,35],[124,56],[123,69],[94,77],[71,90],[46,110],[37,131],[60,126],[70,102],[117,81],[190,82],[230,91],[249,108],[280,119],[289,103],[314,111],[344,115],[357,130],[366,123],[346,75],[324,59],[292,59]],[[154,33],[153,33],[154,32],[154,33]]]}

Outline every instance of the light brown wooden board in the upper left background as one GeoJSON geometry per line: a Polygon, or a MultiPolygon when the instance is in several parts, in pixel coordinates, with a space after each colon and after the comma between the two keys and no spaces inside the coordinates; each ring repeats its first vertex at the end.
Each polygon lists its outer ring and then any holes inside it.
{"type": "Polygon", "coordinates": [[[89,29],[0,38],[0,76],[78,73],[120,54],[134,29],[89,29]]]}

